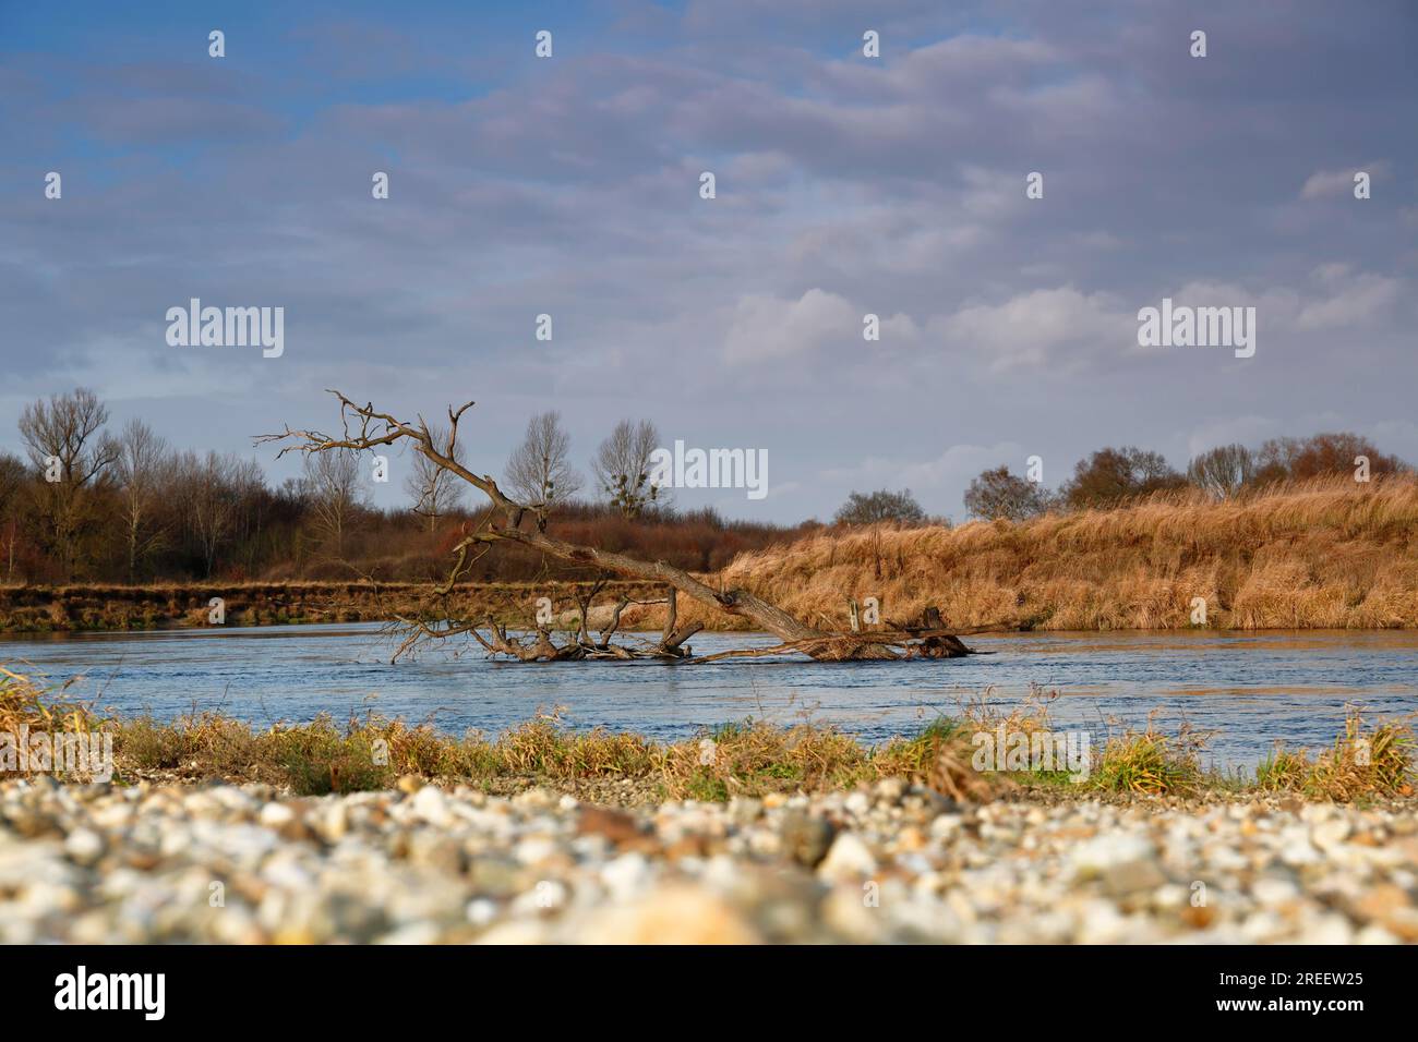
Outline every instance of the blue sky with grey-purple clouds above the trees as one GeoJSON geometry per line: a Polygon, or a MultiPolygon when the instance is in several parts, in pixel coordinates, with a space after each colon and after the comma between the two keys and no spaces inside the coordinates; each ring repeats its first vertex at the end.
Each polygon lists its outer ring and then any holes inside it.
{"type": "Polygon", "coordinates": [[[139,9],[0,0],[0,447],[82,384],[282,476],[251,435],[329,425],[326,387],[471,398],[479,469],[545,408],[583,469],[647,417],[767,449],[767,499],[681,502],[786,522],[881,486],[961,519],[983,468],[1107,444],[1418,461],[1404,0],[139,9]],[[1164,296],[1255,306],[1255,356],[1139,347],[1164,296]],[[284,356],[169,346],[190,298],[282,306],[284,356]]]}

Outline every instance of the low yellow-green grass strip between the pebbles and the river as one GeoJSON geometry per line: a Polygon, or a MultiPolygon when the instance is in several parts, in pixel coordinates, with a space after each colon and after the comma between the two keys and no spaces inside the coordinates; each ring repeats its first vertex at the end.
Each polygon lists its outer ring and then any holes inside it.
{"type": "MultiPolygon", "coordinates": [[[[0,668],[0,733],[113,734],[115,781],[159,777],[177,781],[268,781],[302,795],[389,788],[403,775],[434,781],[550,784],[635,781],[662,798],[727,800],[766,792],[821,792],[886,777],[929,784],[957,800],[1008,798],[1046,791],[1058,798],[1115,794],[1194,797],[1208,792],[1288,792],[1356,802],[1411,797],[1414,730],[1407,720],[1366,727],[1357,712],[1333,749],[1276,749],[1254,780],[1201,766],[1205,736],[1120,730],[1093,757],[1090,773],[1072,783],[1065,770],[988,771],[971,766],[978,732],[1034,736],[1051,730],[1044,700],[998,710],[987,702],[957,717],[939,717],[916,734],[866,746],[832,726],[776,726],[763,720],[723,724],[699,737],[658,743],[604,729],[576,732],[553,715],[489,737],[452,737],[428,723],[377,716],[345,724],[329,716],[311,723],[258,729],[206,713],[170,723],[102,717],[86,705],[47,692],[0,668]],[[709,744],[712,743],[712,744],[709,744]]],[[[13,767],[11,767],[13,770],[13,767]]]]}

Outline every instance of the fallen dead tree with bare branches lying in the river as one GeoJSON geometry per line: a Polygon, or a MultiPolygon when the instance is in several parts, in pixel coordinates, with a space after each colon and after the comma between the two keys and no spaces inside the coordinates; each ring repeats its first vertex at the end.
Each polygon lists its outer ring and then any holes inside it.
{"type": "Polygon", "coordinates": [[[434,587],[427,608],[417,618],[400,617],[397,620],[397,627],[404,639],[394,654],[396,659],[411,652],[424,641],[444,639],[462,634],[471,635],[489,654],[508,655],[523,662],[635,658],[713,662],[732,656],[754,656],[788,651],[801,652],[827,662],[954,658],[971,654],[960,642],[957,637],[959,631],[950,632],[946,629],[942,624],[940,612],[934,610],[932,610],[933,615],[927,612],[922,624],[915,627],[893,625],[889,629],[858,629],[856,632],[820,629],[747,590],[715,590],[688,571],[665,561],[642,561],[623,553],[567,543],[549,536],[546,534],[545,505],[518,503],[498,488],[496,481],[491,475],[475,474],[459,462],[458,424],[475,403],[469,401],[459,408],[450,407],[447,435],[435,439],[423,417],[418,417],[413,422],[401,421],[389,413],[380,413],[374,408],[373,403],[359,405],[339,391],[330,391],[330,394],[340,403],[343,427],[340,435],[329,435],[316,430],[291,430],[286,427],[281,434],[258,437],[257,444],[285,442],[278,452],[279,456],[291,451],[305,454],[339,449],[373,451],[407,442],[434,466],[457,475],[482,492],[491,503],[491,510],[486,516],[454,546],[454,561],[448,576],[441,584],[434,587]],[[554,560],[586,567],[601,577],[601,580],[607,576],[623,576],[662,584],[666,590],[668,607],[659,641],[645,649],[631,649],[611,644],[611,637],[620,627],[621,611],[630,604],[624,598],[613,611],[611,622],[601,631],[600,639],[593,639],[588,632],[587,617],[591,610],[591,597],[598,591],[600,583],[591,595],[580,603],[579,627],[574,634],[569,635],[567,642],[562,645],[557,645],[552,639],[550,631],[542,624],[537,624],[535,637],[530,639],[513,639],[508,637],[505,627],[499,627],[491,618],[476,621],[455,618],[455,612],[450,607],[451,594],[458,581],[471,571],[482,553],[496,543],[519,543],[554,560]],[[718,655],[693,658],[685,641],[699,632],[703,624],[676,625],[678,597],[681,594],[716,611],[744,618],[757,629],[777,637],[781,644],[773,649],[720,652],[718,655]],[[481,632],[484,629],[488,634],[486,637],[481,632]]]}

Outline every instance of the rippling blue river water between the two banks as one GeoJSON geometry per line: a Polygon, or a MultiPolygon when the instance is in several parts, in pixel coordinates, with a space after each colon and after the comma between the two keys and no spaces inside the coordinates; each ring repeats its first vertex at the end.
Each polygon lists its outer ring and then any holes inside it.
{"type": "MultiPolygon", "coordinates": [[[[634,635],[625,639],[634,639],[634,635]]],[[[696,654],[770,645],[767,635],[699,634],[696,654]]],[[[797,658],[706,665],[489,662],[476,645],[390,665],[377,624],[228,627],[126,634],[10,635],[0,663],[99,709],[170,719],[221,710],[258,724],[320,712],[501,732],[536,712],[569,726],[682,739],[761,717],[835,723],[866,740],[909,733],[961,703],[1001,707],[1056,692],[1056,727],[1214,732],[1207,760],[1251,768],[1276,740],[1329,746],[1349,702],[1366,716],[1418,712],[1418,631],[1262,634],[1018,634],[967,639],[993,652],[936,662],[817,663],[797,658]]]]}

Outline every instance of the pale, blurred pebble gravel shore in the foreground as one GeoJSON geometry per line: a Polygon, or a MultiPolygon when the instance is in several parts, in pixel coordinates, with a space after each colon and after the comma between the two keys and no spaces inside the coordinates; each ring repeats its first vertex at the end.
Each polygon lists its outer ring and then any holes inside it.
{"type": "Polygon", "coordinates": [[[0,784],[6,943],[1411,943],[1415,899],[1412,801],[0,784]]]}

